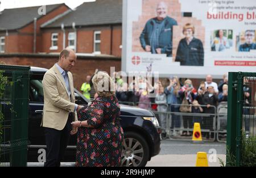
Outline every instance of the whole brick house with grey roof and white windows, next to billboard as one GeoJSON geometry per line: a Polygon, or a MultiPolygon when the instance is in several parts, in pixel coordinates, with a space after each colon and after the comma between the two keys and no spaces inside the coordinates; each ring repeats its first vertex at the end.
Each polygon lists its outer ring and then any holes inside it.
{"type": "Polygon", "coordinates": [[[121,57],[122,0],[85,2],[41,29],[42,52],[60,52],[69,46],[76,53],[121,57]]]}

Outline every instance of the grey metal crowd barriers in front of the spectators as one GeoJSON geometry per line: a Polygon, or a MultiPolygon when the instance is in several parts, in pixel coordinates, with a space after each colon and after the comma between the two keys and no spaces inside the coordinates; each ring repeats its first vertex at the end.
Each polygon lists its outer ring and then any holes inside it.
{"type": "MultiPolygon", "coordinates": [[[[161,111],[158,109],[152,109],[152,105],[158,105],[156,103],[144,103],[144,102],[126,102],[119,101],[120,104],[133,105],[138,107],[139,104],[148,104],[148,110],[151,110],[158,118],[159,125],[162,127],[163,132],[165,130],[167,138],[169,139],[192,139],[193,124],[199,122],[201,126],[201,133],[203,140],[226,142],[226,123],[227,123],[227,110],[228,104],[221,102],[218,107],[210,105],[213,108],[213,113],[191,113],[191,112],[174,112],[170,111],[171,105],[161,104],[167,108],[167,111],[161,111]],[[166,118],[166,123],[161,123],[161,118],[166,118]]],[[[180,107],[181,104],[172,104],[172,106],[180,107]]],[[[190,105],[185,105],[189,107],[190,105]]],[[[203,109],[207,105],[200,105],[203,109]]]]}

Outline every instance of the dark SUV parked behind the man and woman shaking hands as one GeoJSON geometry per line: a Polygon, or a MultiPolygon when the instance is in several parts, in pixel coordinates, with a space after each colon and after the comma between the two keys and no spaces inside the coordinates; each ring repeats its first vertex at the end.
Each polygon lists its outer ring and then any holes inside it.
{"type": "MultiPolygon", "coordinates": [[[[28,114],[27,162],[40,162],[45,156],[44,129],[40,127],[43,110],[42,80],[47,69],[31,67],[30,101],[28,114]],[[44,155],[42,155],[44,154],[44,155]]],[[[87,105],[88,100],[75,90],[76,104],[87,105]]],[[[154,113],[145,109],[121,105],[121,124],[125,132],[122,166],[145,166],[152,156],[160,151],[160,128],[154,113]]],[[[64,162],[75,162],[76,135],[71,136],[64,162]]]]}

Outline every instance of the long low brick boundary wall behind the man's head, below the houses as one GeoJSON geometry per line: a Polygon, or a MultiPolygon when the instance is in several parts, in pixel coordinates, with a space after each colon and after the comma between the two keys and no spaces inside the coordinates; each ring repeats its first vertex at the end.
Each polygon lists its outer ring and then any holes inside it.
{"type": "MultiPolygon", "coordinates": [[[[35,67],[51,68],[58,60],[58,57],[4,57],[0,56],[0,62],[7,65],[26,65],[35,67]]],[[[77,57],[77,62],[71,70],[74,78],[74,86],[78,90],[86,80],[86,75],[92,75],[95,69],[107,71],[110,74],[110,67],[115,67],[115,71],[121,70],[121,60],[112,60],[109,58],[81,58],[77,57]]]]}

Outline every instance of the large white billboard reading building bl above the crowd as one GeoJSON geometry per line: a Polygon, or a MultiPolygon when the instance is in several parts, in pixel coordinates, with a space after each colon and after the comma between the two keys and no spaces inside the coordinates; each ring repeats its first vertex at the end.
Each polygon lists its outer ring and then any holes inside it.
{"type": "Polygon", "coordinates": [[[122,71],[221,78],[256,71],[252,0],[124,0],[122,71]]]}

